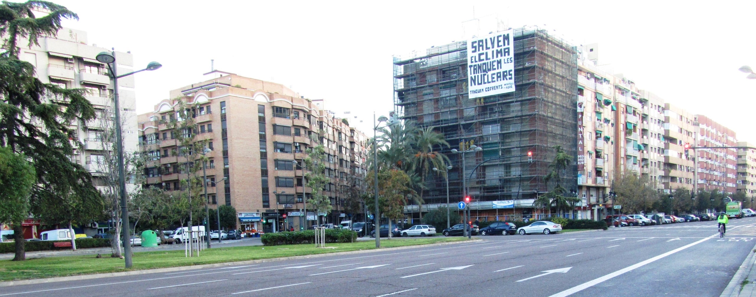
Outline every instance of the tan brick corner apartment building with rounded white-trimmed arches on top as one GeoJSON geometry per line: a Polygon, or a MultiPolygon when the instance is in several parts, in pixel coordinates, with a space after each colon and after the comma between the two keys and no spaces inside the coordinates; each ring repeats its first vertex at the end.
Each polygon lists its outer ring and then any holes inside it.
{"type": "Polygon", "coordinates": [[[176,153],[180,148],[172,136],[179,131],[168,125],[177,120],[181,100],[191,106],[195,122],[188,132],[212,149],[207,154],[208,196],[203,199],[213,208],[218,203],[234,206],[241,229],[276,232],[313,224],[317,214],[309,208],[304,212],[312,190],[303,178],[308,172],[303,159],[305,151],[318,144],[326,148],[325,173],[330,178],[324,193],[333,212],[327,221],[364,219],[364,206],[347,203],[349,195],[363,187],[368,141],[364,133],[334,117],[323,101],[312,101],[283,85],[218,70],[205,75],[212,79],[170,91],[172,99],[140,115],[141,150],[155,159],[145,169],[147,186],[184,190],[179,181],[187,178],[180,170],[185,156],[176,153]]]}

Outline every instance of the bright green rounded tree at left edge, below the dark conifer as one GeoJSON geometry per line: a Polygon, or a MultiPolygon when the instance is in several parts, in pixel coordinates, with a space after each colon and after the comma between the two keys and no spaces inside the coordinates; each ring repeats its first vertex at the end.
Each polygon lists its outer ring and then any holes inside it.
{"type": "MultiPolygon", "coordinates": [[[[34,167],[23,155],[0,147],[0,221],[11,223],[16,242],[23,242],[21,224],[29,216],[29,193],[36,177],[34,167]]],[[[19,255],[23,257],[23,244],[16,245],[16,257],[19,255]]]]}

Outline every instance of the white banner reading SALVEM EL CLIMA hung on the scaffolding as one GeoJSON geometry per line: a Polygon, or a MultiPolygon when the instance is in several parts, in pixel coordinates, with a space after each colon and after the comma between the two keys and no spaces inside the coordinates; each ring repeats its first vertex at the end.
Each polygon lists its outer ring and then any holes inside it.
{"type": "Polygon", "coordinates": [[[513,30],[496,32],[467,44],[469,98],[515,91],[513,30]]]}

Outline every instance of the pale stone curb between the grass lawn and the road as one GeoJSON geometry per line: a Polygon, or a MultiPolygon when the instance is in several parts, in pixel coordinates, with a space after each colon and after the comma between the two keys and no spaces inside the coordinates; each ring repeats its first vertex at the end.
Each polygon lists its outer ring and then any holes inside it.
{"type": "Polygon", "coordinates": [[[206,264],[206,265],[180,266],[180,267],[172,267],[172,268],[156,268],[156,269],[148,269],[148,270],[141,270],[141,271],[111,272],[109,274],[85,274],[85,275],[75,275],[75,276],[70,276],[70,277],[40,278],[36,280],[13,280],[9,282],[0,283],[0,287],[33,285],[37,283],[56,283],[56,282],[65,282],[65,281],[70,281],[70,280],[91,280],[91,279],[103,278],[103,277],[124,277],[124,276],[129,276],[129,275],[155,274],[155,273],[171,272],[171,271],[188,271],[188,270],[200,269],[200,268],[216,268],[216,267],[223,267],[223,266],[248,265],[248,264],[255,264],[255,263],[296,260],[296,259],[303,259],[303,258],[322,258],[322,257],[330,256],[330,255],[353,255],[353,254],[363,254],[367,252],[376,252],[376,251],[395,251],[395,250],[400,250],[400,249],[414,249],[414,248],[426,247],[426,246],[445,246],[445,245],[457,244],[457,243],[476,243],[479,241],[483,241],[483,240],[481,239],[465,240],[465,241],[459,241],[459,242],[454,242],[454,243],[429,243],[429,244],[422,244],[419,246],[398,246],[398,247],[384,248],[384,249],[361,249],[358,251],[350,251],[350,252],[330,252],[330,253],[317,254],[317,255],[297,255],[293,257],[284,257],[284,258],[267,258],[267,259],[259,259],[259,260],[225,262],[225,263],[206,264]]]}

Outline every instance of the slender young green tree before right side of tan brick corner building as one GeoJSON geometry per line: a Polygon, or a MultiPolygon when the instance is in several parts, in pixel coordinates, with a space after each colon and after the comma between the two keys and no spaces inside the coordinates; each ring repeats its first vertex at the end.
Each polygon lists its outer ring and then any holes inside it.
{"type": "Polygon", "coordinates": [[[310,172],[305,174],[307,186],[312,189],[310,199],[307,200],[308,206],[317,213],[318,224],[321,224],[320,214],[326,215],[333,209],[330,199],[323,193],[324,187],[328,184],[329,179],[325,175],[326,154],[323,144],[316,147],[310,147],[306,151],[305,164],[310,172]]]}

